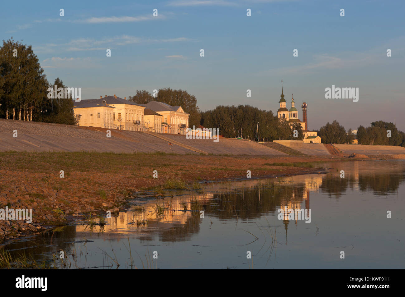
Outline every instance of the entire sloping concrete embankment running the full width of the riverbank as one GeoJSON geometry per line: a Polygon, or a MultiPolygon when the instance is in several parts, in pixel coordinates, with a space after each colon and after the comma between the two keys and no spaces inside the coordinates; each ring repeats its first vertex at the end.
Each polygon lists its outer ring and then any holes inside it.
{"type": "Polygon", "coordinates": [[[405,158],[405,148],[389,145],[335,144],[280,140],[256,143],[246,139],[186,139],[185,135],[122,131],[0,119],[0,152],[165,152],[176,154],[229,154],[264,156],[347,157],[355,153],[369,158],[405,158]],[[111,137],[107,137],[107,130],[111,137]],[[17,131],[17,137],[13,137],[17,131]],[[169,145],[171,143],[171,145],[169,145]],[[336,152],[336,153],[334,153],[336,152]]]}

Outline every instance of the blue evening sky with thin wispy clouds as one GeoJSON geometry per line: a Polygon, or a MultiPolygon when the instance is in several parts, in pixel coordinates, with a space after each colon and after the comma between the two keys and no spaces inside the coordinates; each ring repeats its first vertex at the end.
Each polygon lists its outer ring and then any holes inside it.
{"type": "Polygon", "coordinates": [[[283,80],[301,120],[307,102],[309,129],[395,119],[405,131],[402,0],[16,3],[1,3],[1,40],[32,45],[49,82],[81,87],[82,99],[168,87],[196,96],[202,111],[246,104],[276,113],[283,80]],[[358,88],[358,101],[325,99],[332,85],[358,88]]]}

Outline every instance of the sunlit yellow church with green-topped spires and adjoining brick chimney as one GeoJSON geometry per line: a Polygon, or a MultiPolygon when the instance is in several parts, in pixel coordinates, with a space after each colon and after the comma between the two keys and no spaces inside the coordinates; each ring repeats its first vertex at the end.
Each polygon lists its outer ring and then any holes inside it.
{"type": "Polygon", "coordinates": [[[280,108],[277,110],[277,117],[280,121],[288,121],[291,128],[294,123],[298,123],[301,125],[304,133],[304,143],[321,143],[321,137],[318,136],[318,132],[316,131],[308,131],[308,118],[307,118],[307,110],[308,105],[306,102],[303,102],[301,105],[303,109],[303,121],[298,118],[298,110],[295,108],[294,97],[291,96],[291,108],[290,110],[287,109],[287,101],[284,99],[283,94],[283,80],[281,80],[281,99],[279,101],[280,108]]]}

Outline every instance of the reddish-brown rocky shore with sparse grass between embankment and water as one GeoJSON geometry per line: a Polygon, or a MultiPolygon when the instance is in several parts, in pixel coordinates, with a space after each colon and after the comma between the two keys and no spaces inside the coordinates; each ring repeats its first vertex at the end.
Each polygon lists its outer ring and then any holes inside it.
{"type": "MultiPolygon", "coordinates": [[[[162,192],[168,181],[204,181],[317,172],[314,156],[195,156],[85,152],[0,153],[0,209],[32,209],[32,222],[0,219],[0,245],[122,208],[136,192],[162,192]],[[64,171],[61,177],[60,171],[64,171]],[[153,177],[153,171],[158,177],[153,177]]],[[[342,159],[343,160],[343,159],[342,159]]],[[[347,158],[345,158],[347,160],[347,158]]]]}

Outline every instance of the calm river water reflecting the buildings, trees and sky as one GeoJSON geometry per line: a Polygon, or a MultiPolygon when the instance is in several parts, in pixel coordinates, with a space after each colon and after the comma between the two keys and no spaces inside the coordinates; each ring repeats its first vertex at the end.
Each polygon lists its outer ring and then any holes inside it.
{"type": "Polygon", "coordinates": [[[65,269],[131,268],[131,258],[139,269],[404,268],[405,160],[322,166],[333,169],[203,184],[200,191],[167,191],[164,200],[143,195],[104,228],[60,227],[7,249],[49,261],[65,251],[65,269]],[[288,209],[311,209],[310,220],[288,216],[288,209]]]}

